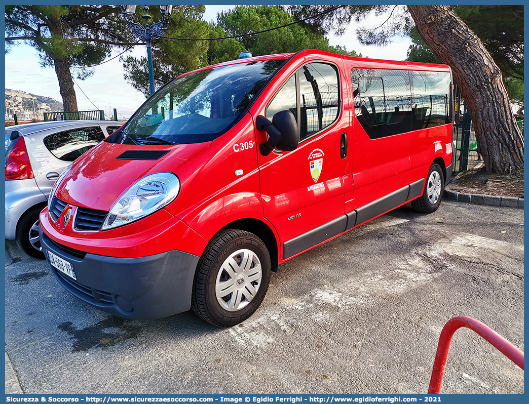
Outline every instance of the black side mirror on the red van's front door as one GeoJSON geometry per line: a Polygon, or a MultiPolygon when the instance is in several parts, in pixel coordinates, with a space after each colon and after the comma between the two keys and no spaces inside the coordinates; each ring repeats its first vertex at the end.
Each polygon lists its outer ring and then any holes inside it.
{"type": "Polygon", "coordinates": [[[291,111],[279,111],[270,122],[266,117],[258,115],[256,127],[268,133],[268,140],[259,145],[262,155],[268,155],[274,148],[281,151],[296,150],[299,144],[299,131],[296,118],[291,111]]]}

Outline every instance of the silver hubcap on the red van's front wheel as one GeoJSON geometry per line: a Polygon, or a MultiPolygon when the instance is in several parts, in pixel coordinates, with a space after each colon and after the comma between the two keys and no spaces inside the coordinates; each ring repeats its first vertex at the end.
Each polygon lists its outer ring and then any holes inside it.
{"type": "Polygon", "coordinates": [[[251,250],[232,253],[221,265],[215,280],[215,297],[227,311],[247,306],[261,286],[262,271],[258,256],[251,250]]]}

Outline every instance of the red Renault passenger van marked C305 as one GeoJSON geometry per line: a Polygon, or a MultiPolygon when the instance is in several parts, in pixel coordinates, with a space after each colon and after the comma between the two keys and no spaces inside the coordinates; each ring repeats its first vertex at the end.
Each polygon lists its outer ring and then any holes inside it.
{"type": "Polygon", "coordinates": [[[116,316],[238,324],[282,262],[410,201],[439,207],[451,81],[315,50],[181,75],[55,183],[51,271],[116,316]]]}

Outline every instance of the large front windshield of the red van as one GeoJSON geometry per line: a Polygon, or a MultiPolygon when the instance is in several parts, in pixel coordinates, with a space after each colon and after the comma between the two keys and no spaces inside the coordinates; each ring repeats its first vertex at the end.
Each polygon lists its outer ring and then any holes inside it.
{"type": "Polygon", "coordinates": [[[177,77],[123,128],[120,143],[189,144],[232,127],[285,60],[238,63],[177,77]]]}

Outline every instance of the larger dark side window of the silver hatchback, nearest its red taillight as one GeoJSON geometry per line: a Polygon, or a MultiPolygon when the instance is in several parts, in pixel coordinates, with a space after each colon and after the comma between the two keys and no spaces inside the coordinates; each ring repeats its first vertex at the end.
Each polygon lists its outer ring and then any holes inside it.
{"type": "Polygon", "coordinates": [[[99,126],[89,126],[49,135],[44,138],[44,145],[59,160],[74,161],[103,139],[99,126]]]}

